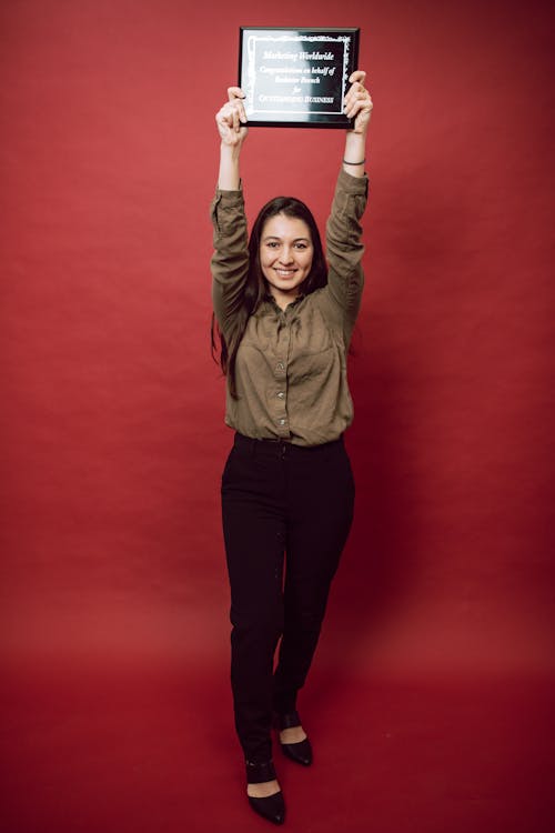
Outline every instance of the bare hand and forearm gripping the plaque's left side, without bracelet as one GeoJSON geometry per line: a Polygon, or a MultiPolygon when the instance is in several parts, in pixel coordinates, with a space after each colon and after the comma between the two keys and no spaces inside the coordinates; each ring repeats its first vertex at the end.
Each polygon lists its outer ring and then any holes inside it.
{"type": "Polygon", "coordinates": [[[239,158],[249,130],[244,127],[246,113],[241,88],[229,87],[228,98],[229,101],[215,116],[221,139],[218,188],[222,191],[238,191],[241,182],[239,158]]]}

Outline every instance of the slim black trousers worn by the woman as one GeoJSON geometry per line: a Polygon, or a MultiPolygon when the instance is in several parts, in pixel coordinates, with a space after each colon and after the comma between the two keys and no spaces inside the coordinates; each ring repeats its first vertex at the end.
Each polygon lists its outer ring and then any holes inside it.
{"type": "Polygon", "coordinates": [[[295,709],[353,503],[342,438],[301,448],[235,435],[222,476],[222,518],[235,726],[249,761],[272,757],[272,712],[295,709]]]}

